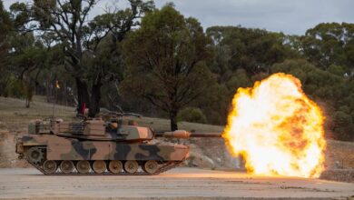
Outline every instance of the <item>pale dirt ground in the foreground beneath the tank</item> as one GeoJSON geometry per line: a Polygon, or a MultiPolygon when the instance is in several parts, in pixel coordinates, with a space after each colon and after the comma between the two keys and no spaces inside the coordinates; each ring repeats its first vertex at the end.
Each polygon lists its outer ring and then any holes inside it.
{"type": "Polygon", "coordinates": [[[178,167],[162,175],[41,175],[0,169],[0,199],[345,199],[354,184],[178,167]]]}

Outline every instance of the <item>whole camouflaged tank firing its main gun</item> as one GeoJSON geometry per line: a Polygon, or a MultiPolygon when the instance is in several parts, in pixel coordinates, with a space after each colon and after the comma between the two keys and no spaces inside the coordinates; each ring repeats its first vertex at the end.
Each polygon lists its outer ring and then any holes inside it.
{"type": "Polygon", "coordinates": [[[220,137],[220,133],[153,132],[121,120],[36,121],[17,138],[16,153],[44,175],[157,175],[181,164],[186,145],[154,145],[154,137],[220,137]]]}

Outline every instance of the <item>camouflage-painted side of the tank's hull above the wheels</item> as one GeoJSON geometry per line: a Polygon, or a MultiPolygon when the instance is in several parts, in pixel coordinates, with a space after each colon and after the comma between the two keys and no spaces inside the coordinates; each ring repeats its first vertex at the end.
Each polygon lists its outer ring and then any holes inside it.
{"type": "MultiPolygon", "coordinates": [[[[143,134],[143,136],[146,135],[143,134]]],[[[133,139],[132,136],[130,138],[133,139]]],[[[80,141],[76,138],[58,135],[24,135],[22,137],[22,145],[25,149],[29,146],[46,146],[46,159],[48,160],[175,161],[182,160],[189,152],[188,147],[185,145],[80,141]]]]}

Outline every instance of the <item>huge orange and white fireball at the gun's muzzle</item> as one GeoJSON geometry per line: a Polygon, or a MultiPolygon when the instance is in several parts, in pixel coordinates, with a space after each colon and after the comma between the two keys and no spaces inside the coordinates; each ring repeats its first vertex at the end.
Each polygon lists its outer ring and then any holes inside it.
{"type": "Polygon", "coordinates": [[[323,121],[300,80],[278,73],[239,88],[222,136],[251,174],[318,177],[326,147],[323,121]]]}

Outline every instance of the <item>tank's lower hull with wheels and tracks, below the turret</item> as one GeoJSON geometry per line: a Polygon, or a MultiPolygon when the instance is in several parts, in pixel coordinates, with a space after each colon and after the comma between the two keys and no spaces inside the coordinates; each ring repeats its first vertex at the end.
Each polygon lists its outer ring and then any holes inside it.
{"type": "Polygon", "coordinates": [[[48,134],[24,135],[17,142],[16,153],[45,175],[156,175],[181,164],[189,148],[185,145],[82,141],[48,134]],[[89,169],[82,170],[82,164],[89,169]],[[95,168],[98,164],[99,170],[95,168]],[[119,164],[116,170],[112,167],[114,164],[119,164]],[[129,170],[130,166],[133,170],[129,170]],[[151,170],[149,166],[152,166],[151,170]]]}

